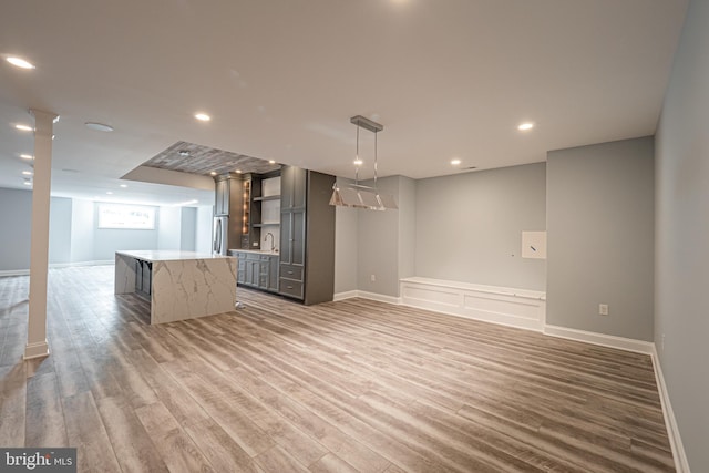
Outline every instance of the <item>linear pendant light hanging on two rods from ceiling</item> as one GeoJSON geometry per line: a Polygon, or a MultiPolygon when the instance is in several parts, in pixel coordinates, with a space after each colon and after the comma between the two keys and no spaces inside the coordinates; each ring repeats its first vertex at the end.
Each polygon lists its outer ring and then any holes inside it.
{"type": "Polygon", "coordinates": [[[364,208],[367,210],[395,210],[399,207],[391,194],[380,194],[377,188],[377,133],[384,130],[382,125],[372,122],[362,115],[350,119],[350,123],[357,125],[357,154],[354,157],[354,184],[340,187],[337,183],[332,186],[330,205],[340,207],[364,208]],[[374,185],[363,186],[359,184],[359,167],[362,161],[359,158],[359,128],[374,133],[374,185]]]}

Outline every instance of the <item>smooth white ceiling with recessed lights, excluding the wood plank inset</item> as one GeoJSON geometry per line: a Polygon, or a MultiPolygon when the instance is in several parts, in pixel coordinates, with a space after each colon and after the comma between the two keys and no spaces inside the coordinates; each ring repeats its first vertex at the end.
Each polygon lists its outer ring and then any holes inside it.
{"type": "MultiPolygon", "coordinates": [[[[0,187],[27,188],[32,136],[12,125],[32,124],[29,109],[61,115],[54,195],[172,204],[210,197],[120,177],[177,141],[351,177],[357,114],[384,126],[380,176],[651,135],[686,3],[6,1],[0,55],[37,69],[0,63],[0,187]]],[[[366,176],[372,138],[362,131],[366,176]]]]}

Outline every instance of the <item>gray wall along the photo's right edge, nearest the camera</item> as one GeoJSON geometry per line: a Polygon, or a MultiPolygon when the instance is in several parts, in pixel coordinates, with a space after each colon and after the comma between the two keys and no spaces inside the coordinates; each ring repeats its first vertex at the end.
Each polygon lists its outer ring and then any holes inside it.
{"type": "Polygon", "coordinates": [[[692,0],[656,141],[655,343],[692,472],[709,472],[707,24],[709,2],[692,0]]]}

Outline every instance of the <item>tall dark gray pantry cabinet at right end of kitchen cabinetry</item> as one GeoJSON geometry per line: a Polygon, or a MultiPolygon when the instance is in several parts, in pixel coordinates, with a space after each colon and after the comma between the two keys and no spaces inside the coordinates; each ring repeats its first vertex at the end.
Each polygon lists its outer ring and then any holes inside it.
{"type": "Polygon", "coordinates": [[[333,184],[327,174],[281,168],[278,290],[306,305],[332,300],[335,291],[333,184]]]}

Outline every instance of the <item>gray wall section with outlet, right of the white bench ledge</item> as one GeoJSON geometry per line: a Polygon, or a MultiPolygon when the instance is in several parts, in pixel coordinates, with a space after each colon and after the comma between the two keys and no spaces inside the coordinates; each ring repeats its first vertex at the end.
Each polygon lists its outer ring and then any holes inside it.
{"type": "Polygon", "coordinates": [[[653,340],[653,137],[548,153],[547,323],[653,340]]]}

